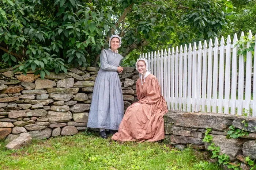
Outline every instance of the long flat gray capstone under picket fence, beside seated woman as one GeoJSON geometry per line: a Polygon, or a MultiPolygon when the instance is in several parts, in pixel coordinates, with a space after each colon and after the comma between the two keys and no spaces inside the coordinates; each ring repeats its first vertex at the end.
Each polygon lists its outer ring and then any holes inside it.
{"type": "MultiPolygon", "coordinates": [[[[218,113],[166,113],[165,122],[174,122],[175,126],[191,128],[211,128],[223,131],[232,124],[232,120],[223,119],[225,114],[218,113]]],[[[226,117],[228,117],[227,115],[226,117]]]]}

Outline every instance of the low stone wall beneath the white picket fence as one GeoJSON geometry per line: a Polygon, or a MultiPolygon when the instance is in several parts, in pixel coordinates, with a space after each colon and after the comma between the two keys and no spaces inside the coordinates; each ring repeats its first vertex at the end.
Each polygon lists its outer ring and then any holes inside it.
{"type": "Polygon", "coordinates": [[[203,138],[206,128],[211,128],[212,143],[220,147],[220,154],[229,155],[230,161],[242,162],[241,166],[245,167],[245,157],[256,159],[256,117],[169,111],[164,121],[166,140],[177,148],[208,149],[210,143],[203,142],[203,138]],[[249,135],[228,138],[231,125],[248,131],[249,135]]]}

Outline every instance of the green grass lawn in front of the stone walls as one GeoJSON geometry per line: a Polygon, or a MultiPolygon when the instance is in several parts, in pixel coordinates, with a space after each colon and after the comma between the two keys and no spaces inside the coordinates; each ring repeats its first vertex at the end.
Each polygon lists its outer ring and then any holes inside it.
{"type": "Polygon", "coordinates": [[[101,139],[95,132],[33,141],[20,150],[0,142],[0,169],[26,170],[221,170],[192,149],[179,151],[163,142],[101,139]]]}

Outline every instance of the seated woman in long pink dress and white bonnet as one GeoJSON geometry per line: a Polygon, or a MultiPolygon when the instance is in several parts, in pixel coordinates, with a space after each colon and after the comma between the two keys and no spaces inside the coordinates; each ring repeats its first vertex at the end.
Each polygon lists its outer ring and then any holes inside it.
{"type": "Polygon", "coordinates": [[[139,101],[127,108],[118,132],[112,139],[121,142],[164,139],[163,115],[167,112],[167,105],[161,95],[158,80],[148,72],[146,59],[137,60],[136,70],[140,73],[136,82],[139,101]]]}

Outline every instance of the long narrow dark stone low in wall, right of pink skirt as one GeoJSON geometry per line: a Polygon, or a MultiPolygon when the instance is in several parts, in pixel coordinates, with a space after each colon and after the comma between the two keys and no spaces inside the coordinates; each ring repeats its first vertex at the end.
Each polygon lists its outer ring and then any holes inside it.
{"type": "Polygon", "coordinates": [[[171,142],[174,143],[181,143],[181,144],[196,144],[196,145],[202,145],[203,139],[200,138],[192,138],[188,136],[178,136],[178,135],[170,135],[171,142]]]}

